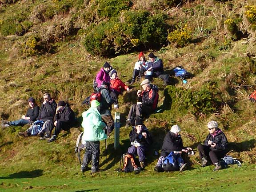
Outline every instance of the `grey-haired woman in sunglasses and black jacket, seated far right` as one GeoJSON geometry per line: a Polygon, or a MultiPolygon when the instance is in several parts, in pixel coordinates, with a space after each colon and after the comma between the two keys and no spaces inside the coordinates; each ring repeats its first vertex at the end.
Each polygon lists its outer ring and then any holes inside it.
{"type": "Polygon", "coordinates": [[[204,141],[204,144],[197,146],[199,156],[201,159],[202,167],[207,166],[208,159],[215,165],[213,171],[224,168],[221,164],[221,158],[226,155],[226,149],[228,146],[228,140],[224,132],[218,128],[216,121],[210,121],[207,124],[209,134],[204,141]]]}

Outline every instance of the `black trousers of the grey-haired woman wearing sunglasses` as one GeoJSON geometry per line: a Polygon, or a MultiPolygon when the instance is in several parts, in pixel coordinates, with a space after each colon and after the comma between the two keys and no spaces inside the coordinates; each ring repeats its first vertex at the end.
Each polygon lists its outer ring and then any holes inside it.
{"type": "Polygon", "coordinates": [[[206,146],[202,144],[199,144],[197,146],[197,149],[199,152],[200,159],[202,159],[203,157],[210,158],[213,164],[219,162],[220,158],[223,158],[226,154],[224,150],[212,149],[210,148],[210,146],[206,146]]]}

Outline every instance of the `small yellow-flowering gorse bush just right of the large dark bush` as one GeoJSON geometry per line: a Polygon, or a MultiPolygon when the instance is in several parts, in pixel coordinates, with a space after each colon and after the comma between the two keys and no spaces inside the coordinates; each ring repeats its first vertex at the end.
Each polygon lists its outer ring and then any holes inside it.
{"type": "Polygon", "coordinates": [[[184,28],[178,28],[170,33],[168,33],[168,41],[176,43],[178,47],[184,47],[191,41],[191,29],[187,25],[184,28]]]}

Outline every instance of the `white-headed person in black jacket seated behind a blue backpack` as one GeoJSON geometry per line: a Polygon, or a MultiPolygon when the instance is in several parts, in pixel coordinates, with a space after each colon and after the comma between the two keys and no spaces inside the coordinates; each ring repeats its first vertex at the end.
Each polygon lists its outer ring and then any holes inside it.
{"type": "Polygon", "coordinates": [[[165,157],[167,157],[171,152],[174,152],[174,156],[178,162],[178,166],[180,168],[180,171],[183,171],[186,164],[184,163],[183,158],[181,157],[181,152],[188,153],[189,151],[192,151],[192,148],[190,147],[184,147],[182,138],[180,136],[180,127],[178,125],[173,125],[171,130],[165,135],[164,142],[161,149],[160,158],[156,164],[156,167],[154,168],[157,172],[164,171],[162,169],[163,160],[165,157]]]}

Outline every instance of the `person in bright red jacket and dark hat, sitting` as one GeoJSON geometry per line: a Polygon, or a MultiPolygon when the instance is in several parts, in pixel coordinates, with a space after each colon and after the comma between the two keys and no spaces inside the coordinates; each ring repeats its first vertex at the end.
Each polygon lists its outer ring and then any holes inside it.
{"type": "Polygon", "coordinates": [[[123,90],[130,91],[129,87],[124,84],[117,76],[115,69],[112,69],[109,72],[110,76],[110,96],[114,100],[114,108],[118,108],[118,99],[117,97],[123,92],[123,90]]]}

